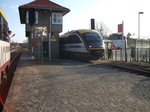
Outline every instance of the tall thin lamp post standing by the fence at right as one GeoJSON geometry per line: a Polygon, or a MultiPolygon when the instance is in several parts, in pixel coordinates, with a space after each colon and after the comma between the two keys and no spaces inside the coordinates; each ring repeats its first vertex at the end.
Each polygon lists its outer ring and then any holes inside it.
{"type": "MultiPolygon", "coordinates": [[[[138,40],[140,40],[140,14],[144,14],[144,12],[139,12],[138,13],[138,40]]],[[[139,43],[136,40],[136,58],[137,58],[136,60],[137,61],[139,61],[138,46],[139,46],[139,43]]]]}

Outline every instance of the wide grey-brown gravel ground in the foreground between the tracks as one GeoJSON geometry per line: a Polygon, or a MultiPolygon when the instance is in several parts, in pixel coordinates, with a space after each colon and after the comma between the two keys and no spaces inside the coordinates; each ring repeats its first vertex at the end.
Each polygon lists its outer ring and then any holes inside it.
{"type": "Polygon", "coordinates": [[[20,61],[10,112],[150,112],[150,79],[104,65],[20,61]]]}

